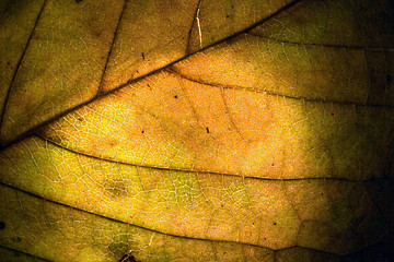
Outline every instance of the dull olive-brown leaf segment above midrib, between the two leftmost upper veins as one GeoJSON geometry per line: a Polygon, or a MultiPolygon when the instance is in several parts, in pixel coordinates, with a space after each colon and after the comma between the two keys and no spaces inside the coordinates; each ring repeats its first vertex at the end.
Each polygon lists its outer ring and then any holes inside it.
{"type": "Polygon", "coordinates": [[[112,0],[45,1],[10,83],[2,143],[95,96],[120,11],[112,0]]]}

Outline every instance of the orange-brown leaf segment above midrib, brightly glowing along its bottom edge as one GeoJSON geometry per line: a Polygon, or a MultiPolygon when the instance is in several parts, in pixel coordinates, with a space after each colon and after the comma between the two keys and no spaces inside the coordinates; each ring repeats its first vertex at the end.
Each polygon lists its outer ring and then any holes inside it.
{"type": "Polygon", "coordinates": [[[114,90],[186,56],[197,4],[198,0],[128,1],[104,74],[102,92],[114,90]]]}

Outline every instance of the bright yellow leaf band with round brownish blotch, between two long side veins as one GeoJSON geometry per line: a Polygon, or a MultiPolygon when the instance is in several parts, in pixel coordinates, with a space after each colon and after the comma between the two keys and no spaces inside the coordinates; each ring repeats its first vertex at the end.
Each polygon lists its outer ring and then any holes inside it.
{"type": "Polygon", "coordinates": [[[166,234],[296,245],[300,221],[280,181],[103,163],[39,139],[20,146],[1,157],[7,184],[166,234]]]}

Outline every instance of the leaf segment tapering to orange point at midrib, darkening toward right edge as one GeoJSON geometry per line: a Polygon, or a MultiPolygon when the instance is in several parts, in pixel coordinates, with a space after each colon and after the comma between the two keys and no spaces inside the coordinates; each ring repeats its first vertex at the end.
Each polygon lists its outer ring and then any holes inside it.
{"type": "Polygon", "coordinates": [[[245,34],[172,69],[195,81],[305,100],[393,106],[394,87],[386,83],[386,75],[394,73],[393,58],[393,51],[289,44],[245,34]]]}

